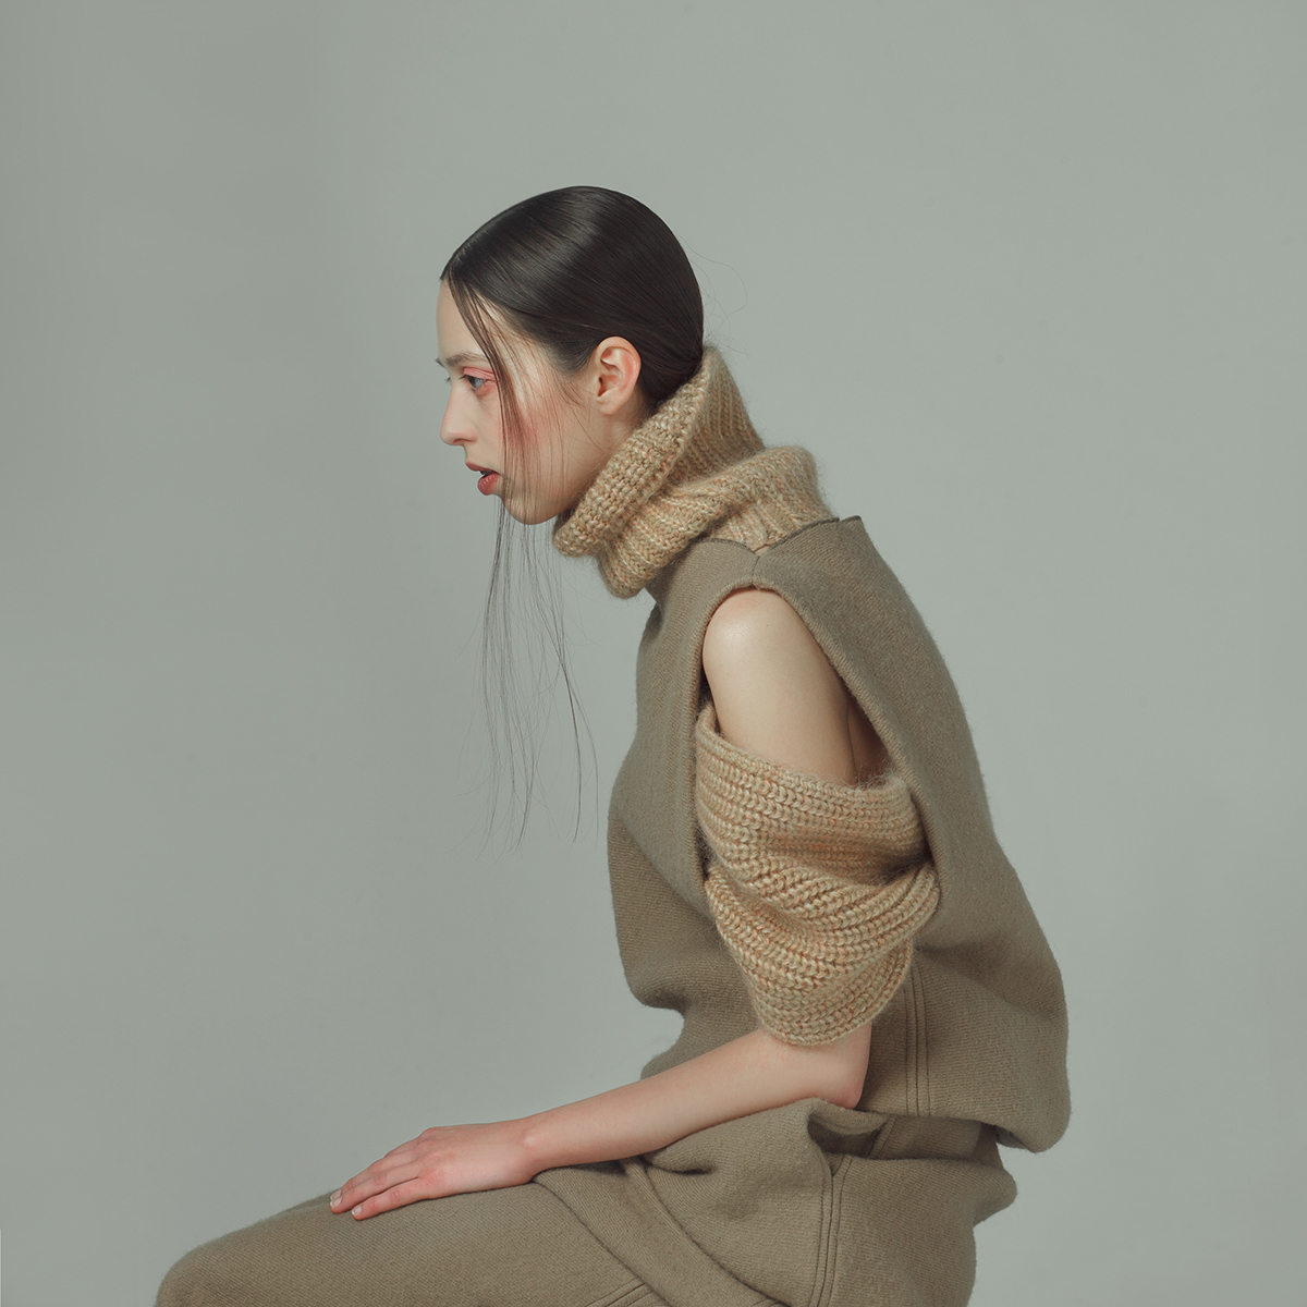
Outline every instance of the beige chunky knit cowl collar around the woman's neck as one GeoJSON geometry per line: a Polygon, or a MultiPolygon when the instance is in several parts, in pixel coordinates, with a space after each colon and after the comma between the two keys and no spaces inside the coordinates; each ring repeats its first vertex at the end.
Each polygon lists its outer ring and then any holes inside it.
{"type": "Polygon", "coordinates": [[[755,552],[833,516],[812,455],[766,448],[721,356],[638,426],[554,523],[569,557],[593,554],[604,583],[629,599],[699,536],[755,552]]]}

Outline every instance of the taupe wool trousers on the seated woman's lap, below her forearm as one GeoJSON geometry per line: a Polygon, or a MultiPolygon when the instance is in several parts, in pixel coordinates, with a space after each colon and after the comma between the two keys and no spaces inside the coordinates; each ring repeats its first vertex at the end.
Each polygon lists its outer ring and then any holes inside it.
{"type": "Polygon", "coordinates": [[[1016,1193],[993,1131],[901,1117],[838,1138],[864,1115],[792,1103],[661,1166],[562,1167],[367,1221],[324,1193],[187,1253],[157,1307],[962,1307],[972,1226],[1016,1193]]]}

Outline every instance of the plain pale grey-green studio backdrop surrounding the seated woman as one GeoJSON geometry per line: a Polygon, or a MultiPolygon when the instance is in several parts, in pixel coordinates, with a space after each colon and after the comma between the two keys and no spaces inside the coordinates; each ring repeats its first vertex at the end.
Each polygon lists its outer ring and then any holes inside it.
{"type": "Polygon", "coordinates": [[[974,1303],[1303,1302],[1303,5],[0,20],[7,1307],[150,1303],[673,1036],[601,836],[650,601],[589,561],[582,838],[554,731],[552,819],[481,843],[495,506],[435,291],[574,183],[668,221],[907,586],[1061,962],[1073,1121],[1005,1150],[974,1303]]]}

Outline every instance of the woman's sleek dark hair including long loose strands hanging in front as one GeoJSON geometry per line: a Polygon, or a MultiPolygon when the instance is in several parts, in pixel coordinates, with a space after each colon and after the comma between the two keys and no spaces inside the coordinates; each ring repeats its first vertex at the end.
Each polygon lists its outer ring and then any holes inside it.
{"type": "MultiPolygon", "coordinates": [[[[618,191],[570,186],[523,200],[468,237],[451,255],[440,280],[494,370],[506,459],[519,467],[525,461],[528,440],[515,375],[515,336],[538,346],[563,376],[579,372],[606,337],[629,340],[640,357],[638,384],[647,412],[690,380],[703,361],[703,298],[690,260],[652,209],[618,191]]],[[[491,725],[494,797],[501,740],[514,795],[519,771],[523,774],[520,840],[536,787],[538,716],[524,721],[508,707],[523,698],[521,668],[512,652],[520,634],[511,614],[515,525],[501,501],[482,625],[481,685],[491,725]]],[[[588,736],[588,727],[567,670],[557,593],[545,595],[540,555],[531,553],[535,540],[538,533],[521,541],[535,565],[535,584],[527,589],[536,608],[532,634],[554,654],[567,690],[576,742],[579,830],[580,729],[584,727],[588,736]]],[[[531,708],[538,714],[549,690],[540,681],[538,659],[533,665],[536,681],[528,693],[531,708]]],[[[493,810],[494,802],[491,827],[493,810]]]]}

